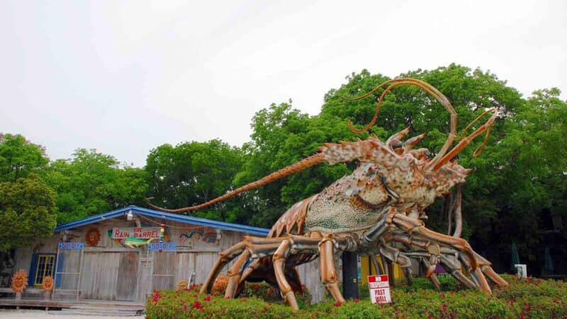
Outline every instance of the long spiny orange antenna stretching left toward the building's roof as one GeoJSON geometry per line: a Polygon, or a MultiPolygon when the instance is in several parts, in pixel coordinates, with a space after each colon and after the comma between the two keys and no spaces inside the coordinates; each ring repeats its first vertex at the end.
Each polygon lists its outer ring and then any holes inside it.
{"type": "Polygon", "coordinates": [[[317,153],[315,155],[311,155],[310,157],[305,157],[305,159],[302,159],[299,162],[293,163],[293,164],[289,165],[288,167],[283,167],[283,169],[280,169],[277,172],[271,173],[268,176],[263,177],[262,179],[254,181],[250,184],[246,184],[245,186],[239,187],[239,188],[237,188],[233,191],[229,191],[228,193],[224,194],[223,196],[218,196],[217,198],[214,198],[214,199],[212,199],[212,200],[210,200],[206,203],[202,203],[202,204],[196,205],[196,206],[184,207],[184,208],[178,208],[178,209],[167,209],[167,208],[162,208],[162,207],[153,205],[152,203],[150,203],[149,198],[147,200],[147,205],[150,206],[150,208],[157,209],[158,211],[166,211],[168,213],[185,213],[185,212],[189,212],[189,211],[198,211],[201,208],[205,208],[207,206],[214,205],[215,203],[219,203],[220,201],[224,201],[225,199],[231,198],[231,197],[236,196],[240,193],[244,193],[245,191],[251,191],[252,189],[257,189],[258,187],[269,184],[272,181],[276,181],[276,180],[281,179],[283,177],[288,177],[291,174],[301,172],[301,171],[303,171],[303,169],[315,166],[315,165],[320,164],[322,162],[325,162],[325,155],[322,154],[322,153],[317,153]]]}

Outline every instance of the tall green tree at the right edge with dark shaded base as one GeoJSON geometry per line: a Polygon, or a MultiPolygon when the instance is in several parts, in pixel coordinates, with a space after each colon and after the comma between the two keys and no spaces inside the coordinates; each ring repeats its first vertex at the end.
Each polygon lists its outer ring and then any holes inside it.
{"type": "MultiPolygon", "coordinates": [[[[503,242],[515,241],[520,255],[531,260],[539,255],[542,234],[551,228],[544,225],[549,218],[545,214],[567,220],[567,150],[562,147],[567,140],[567,103],[559,94],[556,88],[535,91],[507,122],[500,145],[493,147],[503,160],[497,170],[502,182],[490,196],[500,211],[491,229],[505,240],[490,239],[500,248],[503,242]]],[[[565,242],[565,230],[562,236],[565,242]]],[[[554,249],[567,254],[566,245],[554,249]]]]}

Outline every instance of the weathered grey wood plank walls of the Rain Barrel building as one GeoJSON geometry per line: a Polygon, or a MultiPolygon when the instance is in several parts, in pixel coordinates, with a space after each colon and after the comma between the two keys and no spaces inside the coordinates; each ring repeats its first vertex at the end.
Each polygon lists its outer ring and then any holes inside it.
{"type": "MultiPolygon", "coordinates": [[[[142,227],[155,227],[162,220],[144,218],[142,227]]],[[[136,227],[134,220],[125,218],[104,220],[101,223],[86,225],[73,230],[77,237],[70,237],[72,242],[84,242],[85,235],[91,228],[101,233],[96,247],[87,246],[82,262],[79,250],[62,250],[60,252],[59,272],[81,273],[80,291],[82,299],[102,299],[120,301],[144,301],[153,289],[174,289],[180,280],[186,280],[189,274],[195,273],[195,283],[203,284],[210,269],[218,259],[218,253],[228,249],[242,240],[245,233],[223,230],[220,240],[208,239],[209,234],[201,237],[194,233],[199,228],[194,225],[166,222],[172,226],[167,228],[165,241],[176,242],[176,252],[147,252],[146,247],[123,247],[118,240],[111,238],[113,227],[136,227]],[[193,234],[191,234],[193,232],[193,234]]],[[[57,242],[62,240],[61,234],[55,234],[45,240],[38,240],[30,247],[16,250],[16,267],[14,269],[30,270],[33,251],[38,253],[57,253],[57,242]]],[[[227,272],[232,262],[223,267],[227,272]]],[[[313,295],[313,301],[320,301],[324,288],[320,282],[318,259],[315,262],[298,267],[303,284],[313,295]]],[[[57,289],[67,292],[67,298],[77,289],[79,275],[63,274],[57,289]]]]}

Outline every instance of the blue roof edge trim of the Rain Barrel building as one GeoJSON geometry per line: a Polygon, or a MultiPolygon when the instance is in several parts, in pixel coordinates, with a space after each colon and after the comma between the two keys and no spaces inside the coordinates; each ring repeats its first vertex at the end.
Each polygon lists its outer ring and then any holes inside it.
{"type": "Polygon", "coordinates": [[[186,224],[199,225],[199,226],[208,226],[208,227],[211,227],[211,228],[220,228],[222,230],[232,230],[232,231],[240,232],[240,233],[248,233],[250,235],[266,236],[266,235],[268,235],[268,233],[270,231],[267,228],[259,228],[259,227],[240,225],[240,224],[235,224],[235,223],[225,223],[225,222],[220,222],[218,220],[210,220],[210,219],[205,219],[205,218],[197,218],[197,217],[193,217],[193,216],[185,216],[185,215],[179,215],[179,214],[174,214],[174,213],[166,213],[164,211],[155,211],[153,209],[143,208],[143,207],[139,207],[139,206],[128,206],[128,207],[125,207],[125,208],[117,209],[116,211],[109,211],[109,212],[102,213],[102,214],[99,214],[99,215],[96,215],[96,216],[87,217],[87,218],[84,218],[82,220],[75,220],[74,222],[71,222],[71,223],[58,225],[55,228],[55,232],[60,231],[60,230],[68,230],[68,229],[71,229],[71,228],[77,228],[77,227],[89,225],[89,224],[92,224],[92,223],[99,223],[102,220],[106,220],[106,219],[110,219],[110,218],[120,217],[120,216],[125,215],[125,213],[128,213],[128,211],[132,211],[132,213],[140,214],[140,215],[144,215],[144,216],[148,216],[148,217],[162,218],[162,219],[165,219],[165,220],[172,220],[172,221],[175,221],[175,222],[178,222],[178,223],[186,223],[186,224]]]}

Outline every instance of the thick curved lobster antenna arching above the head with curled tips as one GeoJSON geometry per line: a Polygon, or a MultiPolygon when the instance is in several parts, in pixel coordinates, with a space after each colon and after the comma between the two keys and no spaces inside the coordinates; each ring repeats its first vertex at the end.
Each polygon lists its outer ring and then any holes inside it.
{"type": "Polygon", "coordinates": [[[357,100],[360,100],[360,99],[365,99],[366,97],[370,96],[371,94],[374,94],[381,87],[388,85],[388,87],[386,87],[386,89],[384,89],[384,91],[380,95],[380,98],[376,102],[376,111],[374,112],[374,117],[372,118],[370,123],[368,125],[364,126],[364,128],[357,129],[357,128],[354,128],[354,126],[352,125],[352,121],[349,120],[349,122],[348,122],[349,128],[354,133],[362,133],[366,130],[369,130],[369,128],[371,128],[372,125],[374,125],[374,123],[376,123],[376,119],[378,118],[378,113],[380,113],[380,108],[382,107],[382,101],[384,99],[384,96],[386,96],[388,91],[391,91],[391,89],[393,89],[395,86],[404,85],[404,84],[418,86],[421,89],[423,89],[424,91],[426,91],[427,93],[429,93],[431,96],[433,96],[435,99],[437,99],[437,101],[439,103],[441,103],[442,106],[444,106],[444,108],[449,112],[449,115],[450,115],[450,121],[451,121],[450,129],[451,130],[450,130],[449,136],[447,137],[447,140],[445,141],[441,150],[437,153],[437,155],[435,155],[434,159],[432,159],[431,162],[427,163],[426,169],[430,169],[431,167],[434,167],[434,165],[437,162],[439,162],[439,160],[442,159],[442,157],[444,157],[444,155],[447,153],[447,150],[449,150],[449,147],[451,147],[451,145],[453,144],[453,141],[455,140],[455,137],[456,137],[456,124],[457,124],[457,114],[456,114],[456,111],[454,110],[453,106],[451,106],[451,102],[449,102],[449,99],[447,99],[446,96],[444,96],[439,90],[435,89],[434,86],[432,86],[431,84],[428,84],[427,82],[423,82],[423,81],[418,80],[418,79],[413,79],[411,77],[400,77],[398,79],[391,79],[389,81],[386,81],[386,82],[376,86],[376,88],[374,88],[369,93],[366,93],[362,96],[358,96],[354,99],[349,99],[349,98],[346,98],[344,96],[341,96],[342,99],[345,99],[347,101],[357,101],[357,100]]]}

